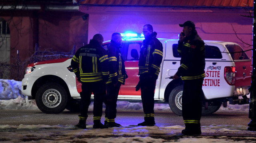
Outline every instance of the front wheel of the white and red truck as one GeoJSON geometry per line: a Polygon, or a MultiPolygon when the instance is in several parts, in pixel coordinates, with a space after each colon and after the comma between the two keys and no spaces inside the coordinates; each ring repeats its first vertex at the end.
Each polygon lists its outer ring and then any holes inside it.
{"type": "Polygon", "coordinates": [[[36,92],[36,105],[44,113],[62,112],[68,102],[68,93],[58,83],[46,83],[36,92]]]}

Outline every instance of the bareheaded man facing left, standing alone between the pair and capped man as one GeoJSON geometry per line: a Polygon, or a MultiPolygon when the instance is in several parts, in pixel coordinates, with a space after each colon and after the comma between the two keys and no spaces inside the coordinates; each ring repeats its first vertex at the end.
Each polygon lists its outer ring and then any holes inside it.
{"type": "Polygon", "coordinates": [[[136,86],[136,91],[141,90],[142,106],[144,111],[144,122],[138,125],[154,126],[154,90],[156,79],[160,72],[160,64],[163,58],[163,45],[156,38],[157,33],[153,32],[153,27],[146,24],[142,28],[145,39],[142,41],[139,58],[140,81],[136,86]]]}

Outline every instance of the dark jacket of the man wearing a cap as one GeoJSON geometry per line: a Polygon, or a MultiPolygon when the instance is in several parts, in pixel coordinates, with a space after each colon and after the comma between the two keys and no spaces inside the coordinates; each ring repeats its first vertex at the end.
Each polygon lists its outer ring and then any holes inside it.
{"type": "Polygon", "coordinates": [[[178,41],[178,53],[181,56],[180,67],[176,73],[182,80],[204,78],[205,45],[197,33],[178,41]]]}

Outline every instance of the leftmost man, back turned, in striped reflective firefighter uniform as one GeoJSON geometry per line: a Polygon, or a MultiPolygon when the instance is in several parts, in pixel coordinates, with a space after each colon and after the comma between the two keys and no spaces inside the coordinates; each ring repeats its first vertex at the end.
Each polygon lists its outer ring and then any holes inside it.
{"type": "Polygon", "coordinates": [[[93,128],[108,128],[100,122],[102,116],[103,98],[106,96],[106,81],[108,80],[108,55],[101,46],[103,37],[96,34],[88,45],[78,49],[71,61],[71,66],[77,80],[82,83],[79,123],[77,127],[86,128],[88,107],[92,92],[94,94],[93,128]]]}

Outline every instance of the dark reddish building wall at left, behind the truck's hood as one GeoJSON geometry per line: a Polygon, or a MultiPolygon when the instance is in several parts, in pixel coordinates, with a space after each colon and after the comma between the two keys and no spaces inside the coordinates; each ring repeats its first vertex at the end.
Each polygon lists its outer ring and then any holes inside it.
{"type": "Polygon", "coordinates": [[[81,12],[60,11],[1,11],[10,28],[10,79],[21,80],[29,63],[24,63],[39,50],[69,52],[87,43],[88,20],[83,20],[81,12]],[[19,60],[18,55],[19,51],[19,60]],[[18,72],[18,76],[17,76],[18,72]]]}

